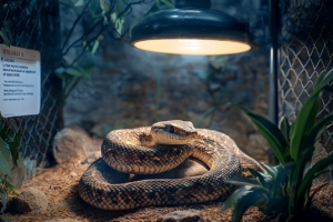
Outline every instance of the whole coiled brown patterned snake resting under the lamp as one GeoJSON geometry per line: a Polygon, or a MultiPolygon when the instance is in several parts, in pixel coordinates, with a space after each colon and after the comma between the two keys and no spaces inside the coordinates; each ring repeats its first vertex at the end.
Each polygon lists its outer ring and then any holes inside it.
{"type": "Polygon", "coordinates": [[[228,195],[224,181],[242,169],[263,170],[228,135],[194,129],[191,122],[159,122],[152,128],[114,130],[102,144],[102,159],[92,163],[79,182],[79,194],[103,210],[201,203],[228,195]],[[210,169],[198,176],[141,180],[119,183],[133,174],[161,173],[186,158],[201,160],[210,169]]]}

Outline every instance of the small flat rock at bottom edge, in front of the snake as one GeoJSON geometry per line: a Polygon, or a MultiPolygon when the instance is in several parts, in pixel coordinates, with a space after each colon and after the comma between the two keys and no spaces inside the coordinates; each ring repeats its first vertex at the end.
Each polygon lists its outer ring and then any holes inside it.
{"type": "Polygon", "coordinates": [[[167,213],[163,216],[162,222],[198,222],[202,216],[201,211],[189,210],[189,211],[174,211],[167,213]]]}

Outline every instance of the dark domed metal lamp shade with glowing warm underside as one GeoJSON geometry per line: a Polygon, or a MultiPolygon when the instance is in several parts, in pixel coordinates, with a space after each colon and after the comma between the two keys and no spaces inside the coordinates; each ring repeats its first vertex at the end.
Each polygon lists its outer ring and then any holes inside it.
{"type": "Polygon", "coordinates": [[[174,54],[233,54],[254,47],[249,26],[220,11],[181,7],[159,11],[132,30],[130,44],[174,54]]]}

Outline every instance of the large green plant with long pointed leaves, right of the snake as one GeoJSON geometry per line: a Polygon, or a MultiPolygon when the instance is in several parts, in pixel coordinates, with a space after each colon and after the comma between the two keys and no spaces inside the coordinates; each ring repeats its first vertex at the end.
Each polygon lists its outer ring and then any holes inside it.
{"type": "Polygon", "coordinates": [[[327,172],[325,169],[333,161],[333,157],[329,157],[307,170],[316,141],[326,131],[325,125],[333,121],[333,115],[315,121],[323,90],[333,92],[333,87],[327,85],[332,80],[332,71],[323,71],[319,75],[313,93],[292,125],[282,118],[278,128],[265,118],[234,104],[261,131],[281,165],[269,167],[262,163],[268,173],[248,169],[251,178],[235,175],[228,180],[229,183],[240,186],[222,205],[222,210],[226,210],[235,203],[232,221],[240,221],[250,206],[259,206],[265,214],[276,213],[278,221],[306,219],[314,194],[326,184],[319,185],[310,195],[312,181],[327,172]]]}

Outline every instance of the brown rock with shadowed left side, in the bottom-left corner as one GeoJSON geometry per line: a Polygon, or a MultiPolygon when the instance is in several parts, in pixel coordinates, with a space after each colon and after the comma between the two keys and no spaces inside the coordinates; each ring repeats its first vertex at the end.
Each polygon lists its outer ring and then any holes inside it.
{"type": "Polygon", "coordinates": [[[19,213],[30,211],[47,211],[48,198],[43,191],[36,188],[27,188],[19,196],[13,196],[7,203],[7,211],[19,213]]]}

